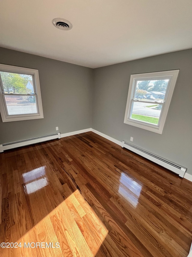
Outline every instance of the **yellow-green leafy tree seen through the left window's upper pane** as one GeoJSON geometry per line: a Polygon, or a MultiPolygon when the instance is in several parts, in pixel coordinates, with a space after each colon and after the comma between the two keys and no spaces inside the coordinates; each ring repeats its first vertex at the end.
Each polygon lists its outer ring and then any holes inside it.
{"type": "Polygon", "coordinates": [[[1,71],[1,80],[3,82],[4,91],[13,94],[27,94],[28,77],[22,77],[17,73],[9,73],[1,71]]]}

